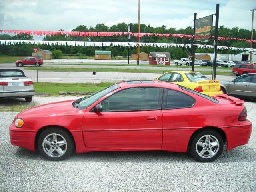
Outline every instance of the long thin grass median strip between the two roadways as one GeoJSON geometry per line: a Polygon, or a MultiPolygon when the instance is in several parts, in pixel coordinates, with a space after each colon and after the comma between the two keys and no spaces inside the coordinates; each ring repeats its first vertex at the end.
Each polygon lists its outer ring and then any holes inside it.
{"type": "MultiPolygon", "coordinates": [[[[26,67],[26,70],[36,70],[35,67],[26,67]]],[[[131,72],[131,73],[165,73],[170,70],[158,70],[158,69],[118,69],[118,68],[58,68],[58,67],[40,67],[41,71],[76,71],[76,72],[131,72]]],[[[202,74],[212,74],[211,71],[199,71],[202,74]]],[[[218,72],[217,75],[233,75],[232,72],[218,72]]]]}

